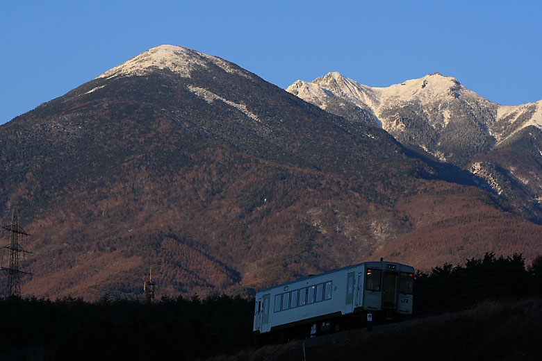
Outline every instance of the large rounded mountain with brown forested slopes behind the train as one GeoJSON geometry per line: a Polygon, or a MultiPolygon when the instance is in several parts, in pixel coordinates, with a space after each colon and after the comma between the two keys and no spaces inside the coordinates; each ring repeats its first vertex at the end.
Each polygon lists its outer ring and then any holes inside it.
{"type": "Polygon", "coordinates": [[[484,179],[237,65],[162,45],[0,126],[23,293],[253,292],[380,255],[431,267],[541,251],[484,179]],[[25,241],[26,242],[26,241],[25,241]]]}

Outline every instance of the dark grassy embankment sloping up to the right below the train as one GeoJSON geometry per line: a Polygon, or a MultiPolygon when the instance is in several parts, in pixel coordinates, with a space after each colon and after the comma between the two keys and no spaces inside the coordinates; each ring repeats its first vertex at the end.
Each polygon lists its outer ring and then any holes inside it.
{"type": "MultiPolygon", "coordinates": [[[[305,359],[318,360],[540,360],[542,299],[482,301],[466,311],[413,319],[372,332],[306,342],[305,359]]],[[[304,360],[302,341],[245,349],[209,360],[304,360]]]]}

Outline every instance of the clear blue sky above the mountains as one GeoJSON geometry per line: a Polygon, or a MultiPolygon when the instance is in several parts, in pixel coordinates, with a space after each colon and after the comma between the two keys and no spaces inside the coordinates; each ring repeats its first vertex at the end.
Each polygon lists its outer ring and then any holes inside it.
{"type": "Polygon", "coordinates": [[[542,1],[0,1],[0,124],[160,44],[279,87],[433,72],[502,105],[542,99],[542,1]]]}

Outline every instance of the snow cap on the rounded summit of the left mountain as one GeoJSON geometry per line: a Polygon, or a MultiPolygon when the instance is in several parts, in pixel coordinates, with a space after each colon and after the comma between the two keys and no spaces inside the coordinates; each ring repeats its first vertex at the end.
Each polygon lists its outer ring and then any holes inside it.
{"type": "Polygon", "coordinates": [[[154,70],[169,69],[183,77],[190,77],[190,72],[196,67],[208,67],[209,64],[216,65],[229,73],[250,77],[250,73],[231,62],[221,58],[200,53],[185,47],[174,45],[160,45],[154,47],[121,65],[108,70],[98,78],[110,78],[113,76],[140,76],[149,74],[154,70]]]}

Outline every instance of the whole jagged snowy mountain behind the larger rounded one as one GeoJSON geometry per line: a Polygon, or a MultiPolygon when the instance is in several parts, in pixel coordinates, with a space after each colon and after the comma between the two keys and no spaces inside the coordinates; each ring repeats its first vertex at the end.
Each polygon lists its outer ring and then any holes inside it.
{"type": "Polygon", "coordinates": [[[536,138],[542,128],[542,101],[500,106],[440,73],[369,87],[334,72],[310,83],[296,81],[287,91],[333,114],[379,126],[405,146],[468,169],[526,217],[542,220],[542,147],[536,138]]]}

